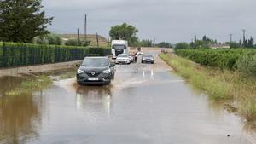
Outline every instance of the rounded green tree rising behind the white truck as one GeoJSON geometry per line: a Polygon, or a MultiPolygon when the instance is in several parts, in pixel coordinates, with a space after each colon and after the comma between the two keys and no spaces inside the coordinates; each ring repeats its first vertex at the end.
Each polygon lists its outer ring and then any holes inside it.
{"type": "Polygon", "coordinates": [[[136,27],[123,23],[122,25],[111,27],[109,36],[116,40],[127,40],[131,45],[133,45],[138,41],[136,36],[137,32],[138,30],[136,27]]]}

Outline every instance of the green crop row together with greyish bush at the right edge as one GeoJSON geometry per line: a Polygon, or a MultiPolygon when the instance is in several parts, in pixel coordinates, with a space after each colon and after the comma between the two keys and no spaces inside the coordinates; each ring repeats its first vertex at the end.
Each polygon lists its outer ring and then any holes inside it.
{"type": "Polygon", "coordinates": [[[179,49],[176,54],[203,66],[256,76],[256,49],[179,49]]]}

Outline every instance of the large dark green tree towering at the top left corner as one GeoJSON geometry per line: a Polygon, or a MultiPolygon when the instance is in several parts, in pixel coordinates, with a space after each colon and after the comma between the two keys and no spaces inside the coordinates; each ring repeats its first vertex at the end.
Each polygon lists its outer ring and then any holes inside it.
{"type": "Polygon", "coordinates": [[[32,43],[34,37],[48,34],[53,17],[46,18],[42,8],[41,0],[1,0],[0,41],[32,43]]]}

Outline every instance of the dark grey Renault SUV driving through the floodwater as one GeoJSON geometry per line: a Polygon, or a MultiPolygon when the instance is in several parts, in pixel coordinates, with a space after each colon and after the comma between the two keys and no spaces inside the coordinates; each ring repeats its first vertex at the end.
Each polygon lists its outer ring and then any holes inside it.
{"type": "Polygon", "coordinates": [[[108,57],[85,57],[78,65],[78,84],[110,84],[114,78],[114,63],[108,57]]]}

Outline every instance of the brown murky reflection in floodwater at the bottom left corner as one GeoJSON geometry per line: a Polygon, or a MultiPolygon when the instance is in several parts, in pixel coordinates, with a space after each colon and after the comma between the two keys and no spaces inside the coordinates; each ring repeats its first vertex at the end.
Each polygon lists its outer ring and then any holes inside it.
{"type": "Polygon", "coordinates": [[[41,124],[40,98],[36,99],[33,95],[4,95],[7,90],[20,84],[22,79],[0,79],[0,143],[26,143],[38,136],[38,125],[41,124]]]}

